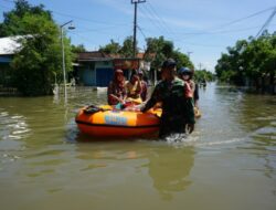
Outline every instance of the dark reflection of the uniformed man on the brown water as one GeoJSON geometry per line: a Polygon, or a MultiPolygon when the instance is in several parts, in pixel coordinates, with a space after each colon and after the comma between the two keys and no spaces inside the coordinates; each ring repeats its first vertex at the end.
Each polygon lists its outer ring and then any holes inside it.
{"type": "Polygon", "coordinates": [[[193,147],[150,150],[149,176],[162,199],[172,200],[174,192],[184,191],[191,185],[189,174],[193,167],[194,154],[193,147]]]}

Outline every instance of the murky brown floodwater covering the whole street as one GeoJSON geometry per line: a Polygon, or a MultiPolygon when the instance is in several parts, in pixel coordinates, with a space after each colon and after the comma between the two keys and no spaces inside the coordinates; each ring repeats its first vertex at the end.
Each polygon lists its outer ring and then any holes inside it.
{"type": "Polygon", "coordinates": [[[0,97],[1,210],[275,210],[276,97],[209,84],[181,141],[82,135],[105,90],[0,97]]]}

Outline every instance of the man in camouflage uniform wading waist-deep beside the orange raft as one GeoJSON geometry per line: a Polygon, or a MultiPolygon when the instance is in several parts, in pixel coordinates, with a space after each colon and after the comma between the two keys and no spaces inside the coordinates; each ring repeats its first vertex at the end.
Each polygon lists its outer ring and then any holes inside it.
{"type": "Polygon", "coordinates": [[[160,122],[159,137],[174,133],[189,133],[194,128],[193,102],[190,90],[185,83],[177,77],[177,64],[174,60],[168,59],[162,64],[162,81],[157,84],[150,99],[141,108],[147,112],[156,103],[162,103],[162,115],[160,122]]]}

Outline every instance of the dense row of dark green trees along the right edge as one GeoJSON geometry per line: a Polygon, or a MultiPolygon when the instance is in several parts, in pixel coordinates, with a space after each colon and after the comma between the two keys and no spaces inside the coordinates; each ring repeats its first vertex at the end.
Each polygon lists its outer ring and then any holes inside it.
{"type": "Polygon", "coordinates": [[[275,93],[276,32],[265,31],[259,38],[238,40],[221,55],[215,73],[222,82],[275,93]]]}

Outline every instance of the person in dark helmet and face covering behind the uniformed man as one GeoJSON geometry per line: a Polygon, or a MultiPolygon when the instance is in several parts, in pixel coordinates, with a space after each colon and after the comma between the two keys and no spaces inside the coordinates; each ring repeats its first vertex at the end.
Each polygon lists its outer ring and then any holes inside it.
{"type": "Polygon", "coordinates": [[[199,85],[194,83],[192,80],[194,71],[190,70],[189,67],[181,67],[179,70],[179,77],[185,82],[187,85],[189,85],[188,88],[191,90],[191,97],[193,97],[194,107],[199,108],[199,85]]]}

